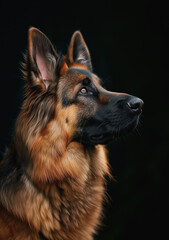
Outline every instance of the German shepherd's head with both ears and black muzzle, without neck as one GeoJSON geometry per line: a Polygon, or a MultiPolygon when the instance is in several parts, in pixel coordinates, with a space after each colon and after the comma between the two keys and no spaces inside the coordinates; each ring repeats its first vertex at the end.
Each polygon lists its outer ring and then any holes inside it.
{"type": "Polygon", "coordinates": [[[64,136],[68,144],[105,144],[134,129],[143,101],[103,88],[92,72],[88,47],[79,31],[66,56],[59,56],[38,29],[29,30],[25,64],[26,100],[23,104],[28,135],[64,136]]]}

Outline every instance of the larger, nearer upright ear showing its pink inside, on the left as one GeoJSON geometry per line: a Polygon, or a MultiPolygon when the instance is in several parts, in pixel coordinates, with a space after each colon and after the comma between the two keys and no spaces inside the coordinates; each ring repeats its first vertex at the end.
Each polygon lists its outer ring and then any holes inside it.
{"type": "Polygon", "coordinates": [[[59,61],[50,40],[37,28],[29,29],[28,58],[30,63],[31,78],[38,83],[44,83],[48,88],[56,79],[56,69],[59,61]]]}

